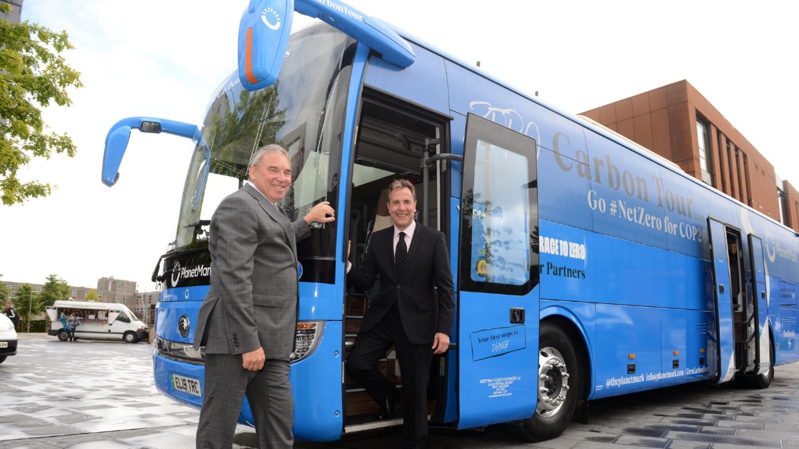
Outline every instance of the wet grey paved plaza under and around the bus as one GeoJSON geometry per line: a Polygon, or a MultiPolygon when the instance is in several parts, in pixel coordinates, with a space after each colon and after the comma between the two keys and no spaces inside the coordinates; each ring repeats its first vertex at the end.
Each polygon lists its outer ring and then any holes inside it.
{"type": "MultiPolygon", "coordinates": [[[[78,341],[21,334],[18,355],[0,364],[0,449],[189,449],[199,412],[173,403],[153,386],[151,344],[78,341]]],[[[399,429],[348,436],[300,448],[392,449],[399,429]]],[[[239,427],[236,447],[256,447],[239,427]]],[[[526,443],[497,427],[431,430],[431,449],[521,447],[796,447],[799,448],[799,364],[777,368],[771,387],[694,384],[602,399],[590,423],[572,423],[561,437],[526,443]]]]}

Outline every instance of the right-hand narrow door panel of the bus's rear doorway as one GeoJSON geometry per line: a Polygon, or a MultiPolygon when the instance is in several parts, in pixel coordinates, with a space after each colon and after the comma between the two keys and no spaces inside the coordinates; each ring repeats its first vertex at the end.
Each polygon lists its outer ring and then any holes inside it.
{"type": "Polygon", "coordinates": [[[749,234],[749,256],[752,258],[752,292],[755,332],[755,372],[765,374],[771,367],[771,341],[769,340],[769,303],[765,294],[765,260],[763,259],[763,242],[760,237],[749,234]]]}

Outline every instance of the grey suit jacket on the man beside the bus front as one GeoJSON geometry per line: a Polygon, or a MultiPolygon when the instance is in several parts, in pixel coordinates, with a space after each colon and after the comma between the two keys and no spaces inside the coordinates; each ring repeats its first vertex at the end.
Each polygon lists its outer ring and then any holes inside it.
{"type": "Polygon", "coordinates": [[[292,352],[297,313],[296,242],[311,234],[288,221],[255,187],[244,185],[211,219],[211,288],[197,316],[194,348],[267,359],[292,352]]]}

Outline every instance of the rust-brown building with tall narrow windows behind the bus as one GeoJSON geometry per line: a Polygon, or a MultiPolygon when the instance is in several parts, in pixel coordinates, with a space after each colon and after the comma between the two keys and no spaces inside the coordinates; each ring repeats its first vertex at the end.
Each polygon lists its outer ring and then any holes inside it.
{"type": "Polygon", "coordinates": [[[582,113],[799,231],[799,192],[686,80],[582,113]]]}

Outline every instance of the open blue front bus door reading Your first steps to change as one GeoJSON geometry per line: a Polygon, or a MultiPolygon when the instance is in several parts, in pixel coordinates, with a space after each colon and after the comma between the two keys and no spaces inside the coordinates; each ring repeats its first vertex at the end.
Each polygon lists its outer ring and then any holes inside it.
{"type": "Polygon", "coordinates": [[[457,428],[528,419],[539,387],[535,140],[469,114],[458,270],[457,428]]]}

